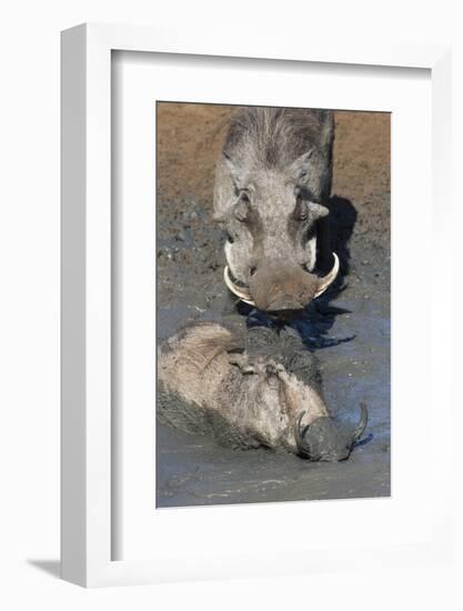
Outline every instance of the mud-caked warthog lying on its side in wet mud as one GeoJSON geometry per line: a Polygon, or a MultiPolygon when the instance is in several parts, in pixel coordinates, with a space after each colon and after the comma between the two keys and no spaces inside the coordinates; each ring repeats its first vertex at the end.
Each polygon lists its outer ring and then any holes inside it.
{"type": "Polygon", "coordinates": [[[315,357],[285,328],[236,330],[197,322],[165,340],[158,353],[158,418],[234,448],[286,450],[311,460],[349,457],[366,425],[330,418],[315,357]]]}

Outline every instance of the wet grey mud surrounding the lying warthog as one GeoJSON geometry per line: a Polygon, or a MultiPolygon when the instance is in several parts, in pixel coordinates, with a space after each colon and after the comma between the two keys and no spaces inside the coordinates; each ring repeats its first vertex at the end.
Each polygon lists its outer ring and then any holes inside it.
{"type": "MultiPolygon", "coordinates": [[[[182,246],[175,239],[160,242],[161,257],[169,260],[170,254],[172,259],[167,279],[171,297],[165,299],[164,291],[160,291],[158,341],[189,320],[220,318],[225,291],[222,268],[211,270],[201,260],[191,269],[175,266],[173,259],[180,250],[194,253],[187,236],[182,237],[182,246]],[[201,267],[207,270],[198,273],[201,267]]],[[[362,248],[361,242],[351,250],[344,290],[318,303],[296,324],[321,362],[330,412],[354,425],[359,403],[365,402],[365,437],[372,435],[370,441],[355,448],[348,461],[314,463],[265,449],[222,448],[214,439],[184,434],[158,423],[157,507],[390,494],[389,256],[381,247],[362,248]]],[[[162,286],[162,272],[158,282],[162,286]]]]}

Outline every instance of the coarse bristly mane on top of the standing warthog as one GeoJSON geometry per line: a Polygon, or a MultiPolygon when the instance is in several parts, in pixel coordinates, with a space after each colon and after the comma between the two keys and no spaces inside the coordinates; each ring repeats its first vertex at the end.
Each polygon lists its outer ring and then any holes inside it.
{"type": "Polygon", "coordinates": [[[248,167],[283,169],[312,147],[329,152],[333,134],[329,110],[248,107],[231,118],[224,153],[248,167]]]}

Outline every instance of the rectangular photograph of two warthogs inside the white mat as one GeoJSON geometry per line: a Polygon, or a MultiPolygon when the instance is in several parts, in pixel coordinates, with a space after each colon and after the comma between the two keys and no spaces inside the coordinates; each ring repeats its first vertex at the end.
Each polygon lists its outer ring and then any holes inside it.
{"type": "Polygon", "coordinates": [[[391,113],[153,113],[155,509],[390,497],[391,113]]]}

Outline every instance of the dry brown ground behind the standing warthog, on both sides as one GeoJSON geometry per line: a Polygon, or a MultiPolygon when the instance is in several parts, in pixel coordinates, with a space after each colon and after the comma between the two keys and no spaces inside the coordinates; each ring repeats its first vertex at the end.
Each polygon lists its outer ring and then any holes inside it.
{"type": "MultiPolygon", "coordinates": [[[[161,219],[168,202],[193,198],[212,206],[213,173],[235,107],[158,104],[158,202],[161,219]]],[[[354,203],[355,230],[385,248],[390,241],[390,114],[335,114],[333,194],[354,203]]]]}

